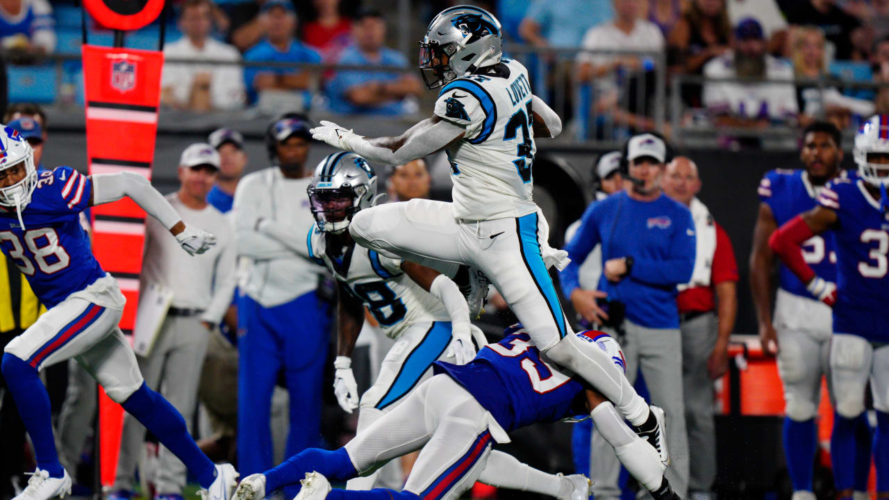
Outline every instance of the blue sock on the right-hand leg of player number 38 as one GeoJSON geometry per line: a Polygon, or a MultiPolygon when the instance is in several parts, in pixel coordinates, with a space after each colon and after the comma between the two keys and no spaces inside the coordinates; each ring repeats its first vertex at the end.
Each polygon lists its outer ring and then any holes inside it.
{"type": "Polygon", "coordinates": [[[185,419],[169,401],[142,383],[121,406],[195,474],[201,488],[210,488],[216,479],[216,467],[197,448],[195,440],[188,434],[185,419]]]}

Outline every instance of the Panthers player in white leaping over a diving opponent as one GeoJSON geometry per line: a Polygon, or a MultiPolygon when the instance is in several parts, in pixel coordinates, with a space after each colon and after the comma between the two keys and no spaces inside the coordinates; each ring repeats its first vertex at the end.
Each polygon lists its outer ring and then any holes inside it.
{"type": "MultiPolygon", "coordinates": [[[[660,414],[609,368],[601,350],[572,335],[549,278],[549,266],[562,269],[567,259],[549,247],[549,226],[533,202],[534,136],[555,137],[562,122],[533,95],[525,67],[502,57],[501,38],[490,12],[469,5],[445,9],[420,42],[420,73],[428,88],[442,87],[432,117],[400,137],[367,140],[331,122],[312,129],[317,140],[376,163],[402,165],[439,149],[451,163],[453,203],[414,199],[375,206],[356,214],[349,232],[380,254],[429,267],[469,265],[476,292],[486,290],[490,278],[533,343],[614,401],[667,464],[660,414]]],[[[469,299],[474,314],[480,294],[469,299]]]]}

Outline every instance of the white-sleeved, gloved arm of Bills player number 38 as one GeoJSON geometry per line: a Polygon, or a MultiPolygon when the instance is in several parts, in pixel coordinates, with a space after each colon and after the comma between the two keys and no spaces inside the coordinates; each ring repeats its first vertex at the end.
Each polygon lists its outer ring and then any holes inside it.
{"type": "Polygon", "coordinates": [[[128,197],[136,202],[148,215],[151,215],[164,228],[170,230],[180,246],[188,254],[203,254],[211,246],[216,245],[216,237],[198,228],[188,226],[164,198],[164,195],[151,187],[148,179],[138,173],[100,173],[91,175],[92,193],[90,206],[111,203],[120,198],[128,197]]]}

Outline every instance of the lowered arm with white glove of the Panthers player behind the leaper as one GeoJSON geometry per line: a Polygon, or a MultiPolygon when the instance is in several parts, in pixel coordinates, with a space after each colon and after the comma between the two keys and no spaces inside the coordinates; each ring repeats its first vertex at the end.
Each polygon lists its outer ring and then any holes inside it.
{"type": "Polygon", "coordinates": [[[364,303],[348,293],[346,286],[337,281],[336,308],[336,359],[333,367],[333,393],[340,407],[352,413],[358,407],[358,384],[352,374],[352,351],[361,327],[364,325],[364,303]]]}

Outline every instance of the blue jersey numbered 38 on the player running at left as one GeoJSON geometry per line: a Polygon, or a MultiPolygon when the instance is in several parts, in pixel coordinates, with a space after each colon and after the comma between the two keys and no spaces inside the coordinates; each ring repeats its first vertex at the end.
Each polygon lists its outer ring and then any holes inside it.
{"type": "Polygon", "coordinates": [[[92,256],[80,213],[92,198],[92,181],[69,166],[40,171],[31,202],[21,213],[0,207],[0,246],[51,308],[105,271],[92,256]]]}

